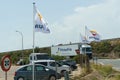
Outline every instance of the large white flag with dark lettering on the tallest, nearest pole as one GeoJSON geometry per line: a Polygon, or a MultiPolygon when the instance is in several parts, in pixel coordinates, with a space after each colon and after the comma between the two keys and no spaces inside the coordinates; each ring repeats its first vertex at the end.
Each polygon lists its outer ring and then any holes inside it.
{"type": "Polygon", "coordinates": [[[39,10],[35,7],[35,32],[50,33],[48,28],[48,23],[43,19],[43,16],[40,14],[39,10]]]}

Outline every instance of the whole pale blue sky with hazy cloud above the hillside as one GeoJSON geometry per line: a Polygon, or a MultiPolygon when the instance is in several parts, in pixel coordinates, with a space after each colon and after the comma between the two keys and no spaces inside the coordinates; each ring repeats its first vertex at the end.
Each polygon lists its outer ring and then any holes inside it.
{"type": "Polygon", "coordinates": [[[1,0],[0,52],[33,46],[33,2],[47,20],[50,34],[35,33],[35,47],[80,42],[85,26],[101,39],[120,36],[120,0],[1,0]]]}

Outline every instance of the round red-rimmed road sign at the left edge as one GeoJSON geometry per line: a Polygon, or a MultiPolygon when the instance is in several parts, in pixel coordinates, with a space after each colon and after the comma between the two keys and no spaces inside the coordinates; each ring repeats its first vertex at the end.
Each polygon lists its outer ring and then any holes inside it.
{"type": "Polygon", "coordinates": [[[3,71],[7,72],[11,67],[11,60],[9,55],[5,55],[1,60],[1,68],[3,71]]]}

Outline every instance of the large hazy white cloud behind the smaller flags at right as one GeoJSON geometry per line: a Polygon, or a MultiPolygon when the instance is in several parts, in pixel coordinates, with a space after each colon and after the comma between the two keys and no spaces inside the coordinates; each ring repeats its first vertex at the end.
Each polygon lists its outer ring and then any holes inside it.
{"type": "Polygon", "coordinates": [[[120,0],[105,0],[104,3],[75,8],[74,14],[53,27],[53,35],[59,42],[78,42],[79,34],[85,33],[85,25],[95,29],[103,39],[120,36],[120,0]]]}

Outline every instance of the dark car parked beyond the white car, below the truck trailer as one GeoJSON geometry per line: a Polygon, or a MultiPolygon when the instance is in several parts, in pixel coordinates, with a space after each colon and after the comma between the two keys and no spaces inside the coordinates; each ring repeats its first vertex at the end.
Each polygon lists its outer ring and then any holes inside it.
{"type": "Polygon", "coordinates": [[[71,70],[77,69],[76,61],[74,61],[74,60],[60,60],[58,62],[61,63],[62,65],[70,66],[71,70]]]}

